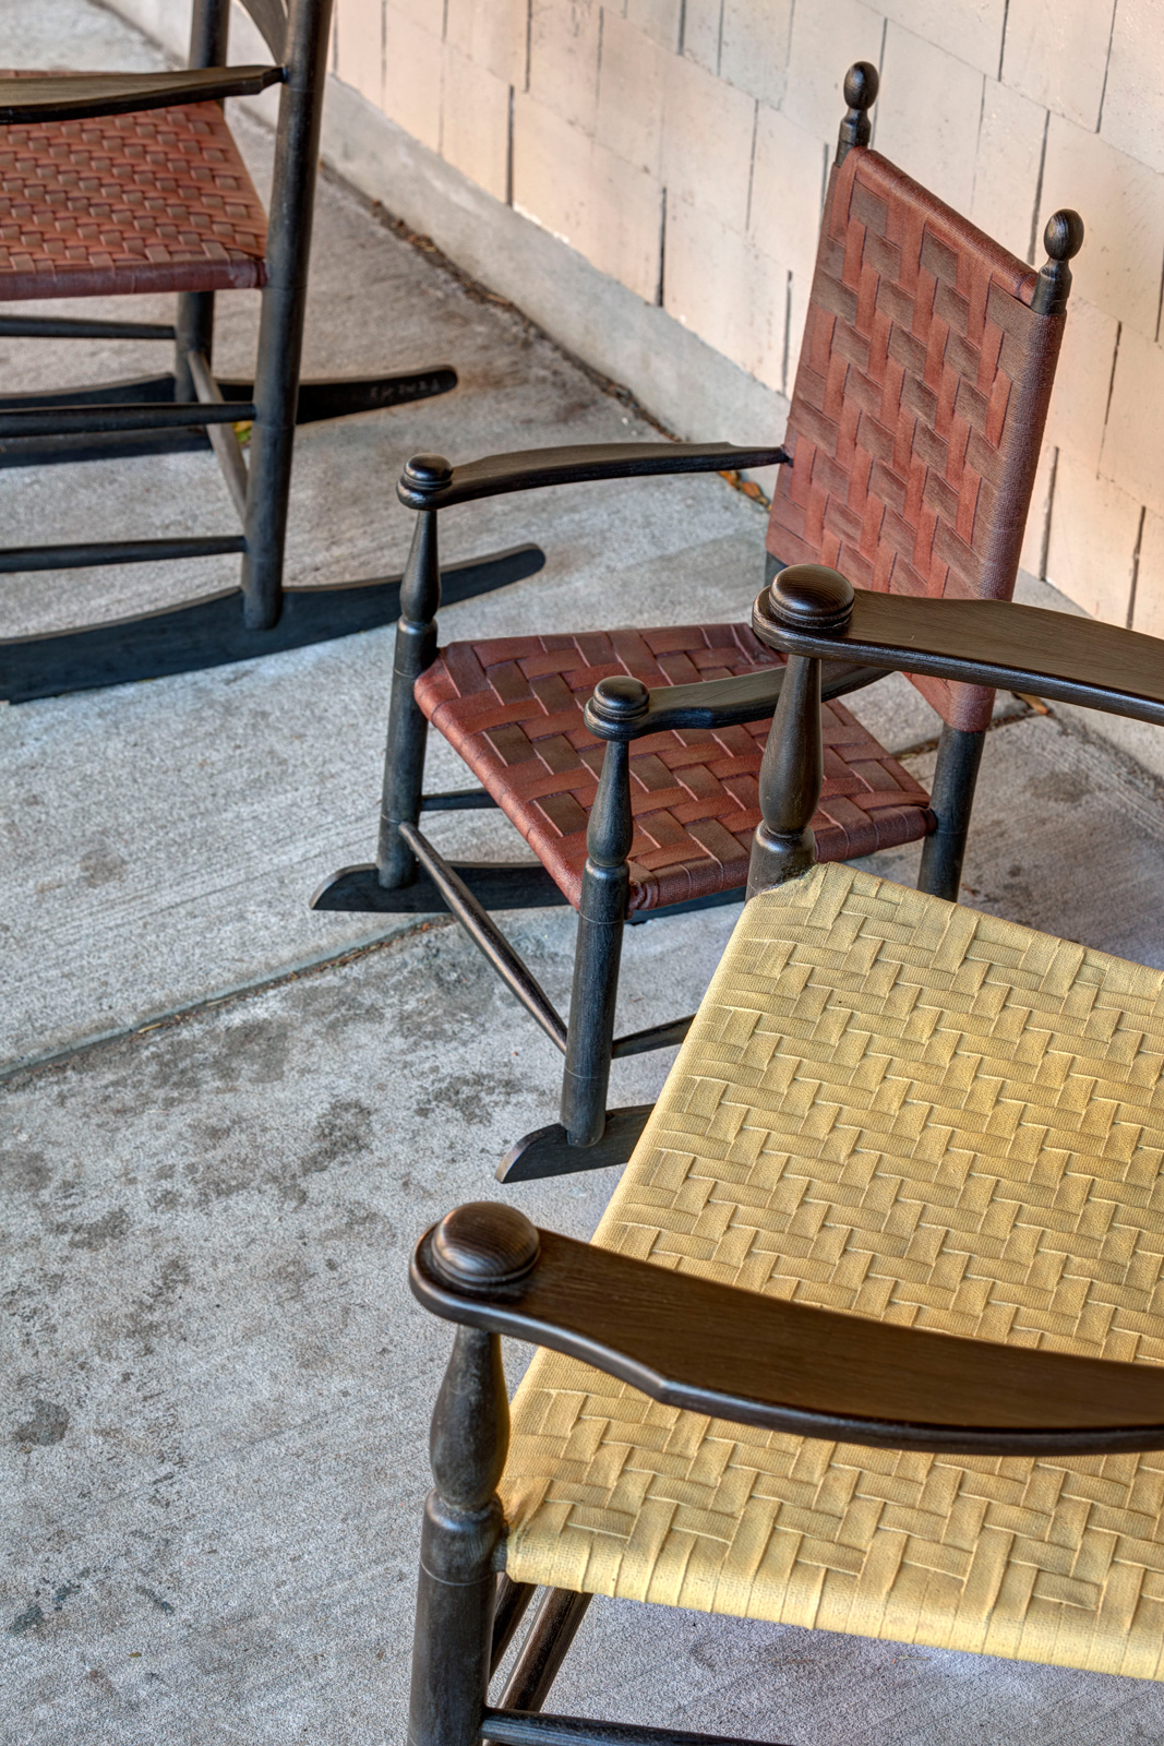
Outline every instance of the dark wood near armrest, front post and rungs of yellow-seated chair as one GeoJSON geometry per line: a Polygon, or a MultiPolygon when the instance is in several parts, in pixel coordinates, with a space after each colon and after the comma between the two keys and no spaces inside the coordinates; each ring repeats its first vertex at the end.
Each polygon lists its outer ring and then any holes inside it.
{"type": "MultiPolygon", "coordinates": [[[[798,656],[799,658],[799,656],[798,656]]],[[[501,1336],[736,1425],[946,1454],[1164,1447],[1164,1369],[958,1339],[815,1310],[459,1206],[421,1238],[415,1297],[457,1325],[431,1428],[410,1746],[728,1746],[721,1736],[541,1715],[590,1596],[548,1589],[501,1702],[489,1681],[532,1599],[499,1580],[510,1416],[501,1336]]],[[[745,1746],[745,1743],[735,1743],[745,1746]]]]}

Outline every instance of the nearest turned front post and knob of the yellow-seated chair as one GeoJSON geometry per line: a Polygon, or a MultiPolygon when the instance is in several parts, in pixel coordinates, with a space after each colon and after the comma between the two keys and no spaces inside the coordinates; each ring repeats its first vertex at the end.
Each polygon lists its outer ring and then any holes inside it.
{"type": "MultiPolygon", "coordinates": [[[[537,1229],[515,1206],[459,1206],[436,1227],[431,1268],[459,1290],[496,1290],[537,1261],[537,1229]]],[[[504,1535],[497,1481],[510,1446],[501,1341],[459,1327],[442,1383],[429,1458],[412,1650],[408,1746],[476,1746],[489,1690],[496,1554],[504,1535]]]]}

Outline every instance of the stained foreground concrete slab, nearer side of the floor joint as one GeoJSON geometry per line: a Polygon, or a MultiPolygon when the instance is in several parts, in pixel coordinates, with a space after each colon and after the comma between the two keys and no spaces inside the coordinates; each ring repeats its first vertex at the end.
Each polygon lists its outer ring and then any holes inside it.
{"type": "MultiPolygon", "coordinates": [[[[998,728],[967,882],[1002,913],[1054,911],[1152,957],[1161,821],[1098,758],[1049,718],[998,728]],[[1101,890],[1072,854],[1084,822],[1119,831],[1127,857],[1101,890]]],[[[871,864],[906,876],[909,861],[871,864]]],[[[632,931],[621,1023],[691,1007],[729,925],[632,931]]],[[[513,932],[562,1000],[569,918],[513,932]]],[[[654,1096],[665,1069],[616,1063],[616,1098],[654,1096]]],[[[553,1051],[447,925],[7,1081],[14,1743],[400,1734],[447,1350],[407,1294],[407,1254],[492,1193],[492,1161],[550,1117],[555,1086],[553,1051]]],[[[531,1184],[520,1201],[588,1234],[611,1184],[531,1184]]],[[[1152,1685],[606,1603],[555,1702],[818,1746],[1148,1741],[1161,1722],[1152,1685]]]]}

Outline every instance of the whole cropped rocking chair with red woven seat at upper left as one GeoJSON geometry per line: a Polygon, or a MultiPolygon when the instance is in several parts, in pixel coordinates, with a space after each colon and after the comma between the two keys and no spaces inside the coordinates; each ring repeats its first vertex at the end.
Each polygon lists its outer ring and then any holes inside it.
{"type": "MultiPolygon", "coordinates": [[[[0,316],[0,335],[157,339],[175,368],[138,381],[0,396],[0,466],[213,445],[243,531],[0,548],[0,573],[243,557],[241,590],[61,634],[0,641],[0,698],[152,679],[391,623],[400,578],[283,588],[295,424],[448,393],[440,365],[300,382],[307,260],[332,0],[243,0],[274,58],[223,66],[229,0],[195,0],[180,73],[0,77],[0,302],[178,292],[173,327],[0,316]],[[222,100],[279,84],[270,225],[222,100]],[[262,286],[255,381],[211,370],[215,293],[262,286]],[[253,421],[250,461],[232,426],[253,421]]],[[[537,546],[455,566],[454,599],[534,574],[537,546]]]]}

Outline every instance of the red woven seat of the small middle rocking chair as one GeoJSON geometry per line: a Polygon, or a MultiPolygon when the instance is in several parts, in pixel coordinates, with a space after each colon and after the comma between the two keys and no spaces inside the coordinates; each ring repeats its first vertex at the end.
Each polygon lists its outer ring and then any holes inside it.
{"type": "MultiPolygon", "coordinates": [[[[599,679],[633,674],[649,686],[691,684],[780,660],[745,625],[503,637],[442,650],[415,697],[576,906],[604,753],[586,732],[583,707],[599,679]]],[[[839,704],[825,704],[822,721],[818,854],[841,861],[925,836],[932,828],[925,789],[839,704]]],[[[747,882],[770,725],[771,718],[632,742],[632,913],[747,882]]]]}

